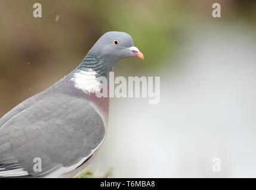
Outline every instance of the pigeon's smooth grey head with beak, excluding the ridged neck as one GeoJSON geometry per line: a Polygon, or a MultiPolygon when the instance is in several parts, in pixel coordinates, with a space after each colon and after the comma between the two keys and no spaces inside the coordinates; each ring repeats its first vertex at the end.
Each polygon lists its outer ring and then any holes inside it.
{"type": "Polygon", "coordinates": [[[106,64],[110,65],[115,65],[116,62],[128,57],[144,59],[143,53],[134,46],[132,37],[120,31],[109,31],[103,34],[88,55],[100,56],[106,64]]]}

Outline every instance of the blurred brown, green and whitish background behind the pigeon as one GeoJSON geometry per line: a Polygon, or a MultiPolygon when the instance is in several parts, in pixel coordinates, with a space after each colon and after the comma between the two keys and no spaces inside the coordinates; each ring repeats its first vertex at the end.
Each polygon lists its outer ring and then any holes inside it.
{"type": "Polygon", "coordinates": [[[106,31],[125,31],[145,60],[119,62],[115,77],[160,76],[161,102],[111,99],[107,137],[87,172],[256,177],[255,18],[249,0],[0,0],[0,117],[72,71],[106,31]],[[42,18],[33,17],[36,2],[42,18]]]}

